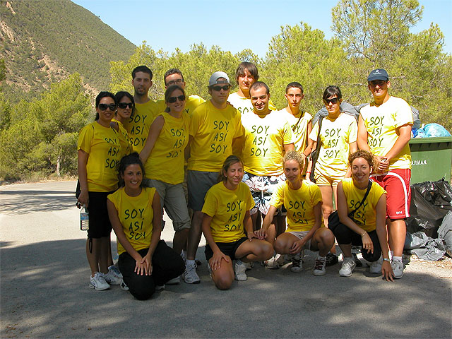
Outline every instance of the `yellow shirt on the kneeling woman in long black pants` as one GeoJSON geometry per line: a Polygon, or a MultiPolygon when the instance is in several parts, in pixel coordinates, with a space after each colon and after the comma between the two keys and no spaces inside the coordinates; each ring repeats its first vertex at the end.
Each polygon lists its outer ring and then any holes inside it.
{"type": "MultiPolygon", "coordinates": [[[[153,200],[155,188],[144,187],[139,196],[128,196],[124,187],[107,197],[118,211],[122,230],[133,249],[148,249],[153,234],[153,200]]],[[[126,250],[118,242],[118,254],[126,250]]]]}

